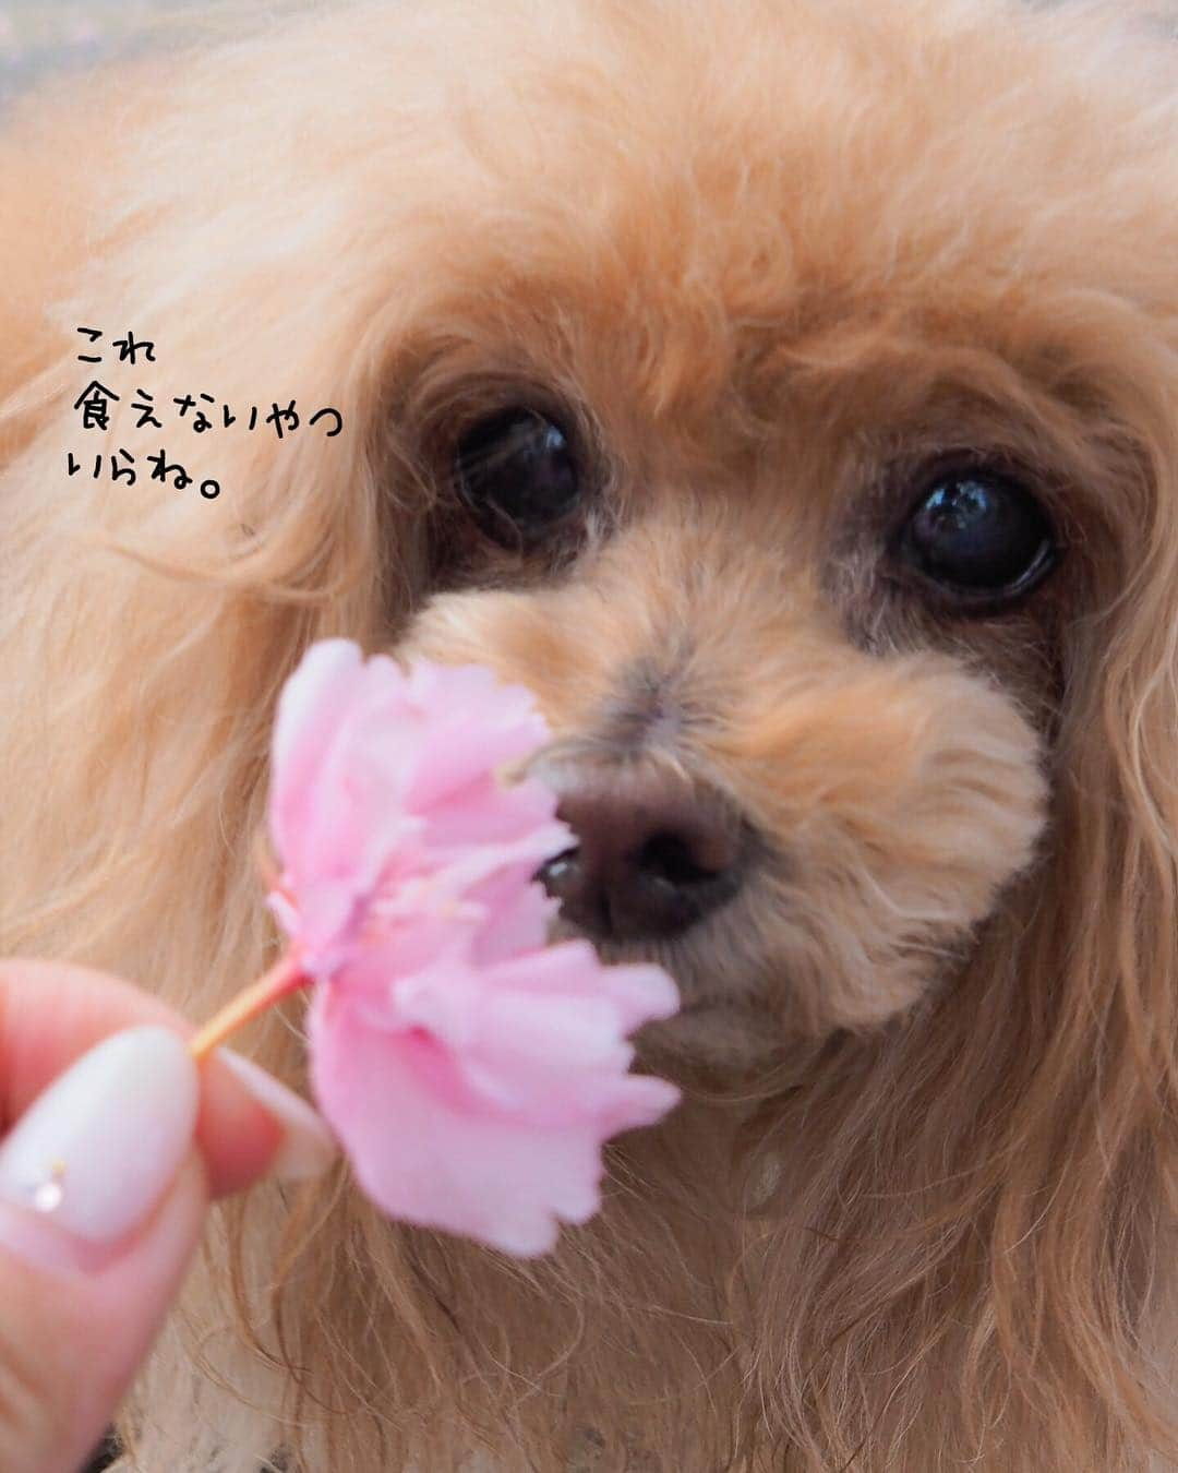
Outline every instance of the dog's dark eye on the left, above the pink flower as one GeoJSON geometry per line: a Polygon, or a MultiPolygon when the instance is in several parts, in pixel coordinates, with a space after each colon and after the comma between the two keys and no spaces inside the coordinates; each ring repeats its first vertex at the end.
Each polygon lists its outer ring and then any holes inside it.
{"type": "Polygon", "coordinates": [[[483,532],[535,542],[577,507],[580,476],[565,432],[535,409],[511,408],[462,435],[454,479],[483,532]]]}

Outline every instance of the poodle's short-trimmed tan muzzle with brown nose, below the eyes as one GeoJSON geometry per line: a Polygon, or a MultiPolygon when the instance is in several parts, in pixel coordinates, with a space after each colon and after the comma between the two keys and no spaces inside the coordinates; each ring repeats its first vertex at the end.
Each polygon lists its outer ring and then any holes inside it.
{"type": "MultiPolygon", "coordinates": [[[[535,766],[579,840],[543,872],[560,931],[667,965],[685,1009],[663,1041],[717,1062],[909,1006],[1026,865],[1043,820],[1017,686],[969,647],[857,645],[822,591],[829,524],[807,545],[804,489],[767,480],[710,498],[636,489],[632,524],[555,585],[440,600],[412,639],[537,689],[555,741],[535,766]]],[[[938,479],[914,516],[1016,495],[938,479]]],[[[856,513],[835,501],[828,514],[856,513]]],[[[876,529],[867,518],[863,541],[876,529]]],[[[886,545],[857,551],[875,552],[867,576],[882,582],[886,545]]],[[[1037,548],[1012,554],[1029,564],[1037,548]]]]}

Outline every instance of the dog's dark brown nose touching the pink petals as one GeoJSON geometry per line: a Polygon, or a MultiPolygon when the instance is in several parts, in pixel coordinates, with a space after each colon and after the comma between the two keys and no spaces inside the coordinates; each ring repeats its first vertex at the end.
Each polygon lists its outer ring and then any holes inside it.
{"type": "Polygon", "coordinates": [[[579,775],[560,818],[576,848],[537,873],[561,916],[599,940],[674,935],[739,888],[741,831],[713,795],[658,772],[579,775]]]}

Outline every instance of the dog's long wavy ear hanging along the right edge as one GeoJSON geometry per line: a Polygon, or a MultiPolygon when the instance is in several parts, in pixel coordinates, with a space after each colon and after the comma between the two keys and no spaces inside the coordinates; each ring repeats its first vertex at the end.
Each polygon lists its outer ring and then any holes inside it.
{"type": "Polygon", "coordinates": [[[1050,1335],[1060,1386],[1101,1408],[1107,1466],[1178,1446],[1174,1365],[1159,1382],[1151,1354],[1162,1333],[1171,1355],[1178,1206],[1178,342],[1125,327],[1103,345],[1118,473],[1104,532],[1075,549],[1091,613],[1063,642],[1050,878],[1022,960],[1038,1064],[991,1249],[1012,1360],[1050,1335]]]}

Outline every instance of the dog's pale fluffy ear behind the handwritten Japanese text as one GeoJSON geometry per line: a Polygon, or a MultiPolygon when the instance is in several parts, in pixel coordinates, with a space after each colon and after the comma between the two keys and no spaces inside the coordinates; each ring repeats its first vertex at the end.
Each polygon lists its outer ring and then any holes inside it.
{"type": "MultiPolygon", "coordinates": [[[[141,265],[165,245],[137,240],[128,256],[141,265]]],[[[175,256],[168,265],[181,270],[175,256]]],[[[299,273],[287,286],[302,290],[299,273]]],[[[387,639],[421,567],[421,508],[386,493],[373,435],[377,355],[361,346],[353,356],[356,324],[312,281],[297,352],[290,330],[289,362],[275,362],[274,343],[243,323],[247,292],[231,283],[224,298],[197,292],[163,311],[128,287],[118,302],[68,308],[110,324],[107,337],[130,324],[155,342],[158,362],[103,368],[121,398],[105,433],[85,432],[71,346],[41,377],[49,402],[3,477],[0,666],[16,698],[0,714],[15,860],[0,946],[155,985],[183,969],[202,978],[202,1010],[227,959],[233,987],[258,956],[244,915],[225,906],[240,896],[258,909],[244,869],[277,689],[312,638],[346,629],[387,639]],[[236,326],[222,330],[221,314],[236,326]],[[137,427],[140,387],[153,392],[162,429],[137,427]],[[240,423],[197,436],[178,421],[172,398],[203,392],[240,423]],[[300,420],[281,439],[265,423],[272,402],[293,402],[300,420]],[[308,423],[321,407],[339,411],[337,436],[325,436],[334,415],[308,423]],[[153,479],[161,452],[187,485],[177,473],[153,479]],[[80,471],[69,474],[68,455],[80,471]],[[206,480],[219,483],[215,495],[202,495],[206,480]],[[215,915],[224,934],[181,941],[181,912],[202,916],[202,929],[215,915]]]]}

